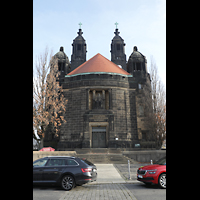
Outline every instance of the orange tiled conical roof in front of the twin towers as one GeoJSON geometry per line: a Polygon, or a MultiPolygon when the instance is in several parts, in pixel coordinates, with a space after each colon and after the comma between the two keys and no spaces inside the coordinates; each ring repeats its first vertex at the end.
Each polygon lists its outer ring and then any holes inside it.
{"type": "Polygon", "coordinates": [[[67,76],[95,72],[131,75],[124,69],[118,67],[115,63],[111,62],[110,60],[102,56],[100,53],[98,53],[94,57],[90,58],[88,61],[84,62],[82,65],[74,69],[72,72],[67,74],[67,76]]]}

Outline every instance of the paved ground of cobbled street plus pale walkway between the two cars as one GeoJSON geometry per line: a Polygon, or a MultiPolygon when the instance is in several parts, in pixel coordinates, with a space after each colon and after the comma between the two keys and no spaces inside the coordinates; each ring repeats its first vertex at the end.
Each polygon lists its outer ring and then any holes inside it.
{"type": "Polygon", "coordinates": [[[58,186],[33,186],[33,200],[165,200],[165,189],[136,180],[139,166],[141,164],[131,165],[131,180],[128,180],[127,165],[96,164],[97,181],[71,191],[58,186]]]}

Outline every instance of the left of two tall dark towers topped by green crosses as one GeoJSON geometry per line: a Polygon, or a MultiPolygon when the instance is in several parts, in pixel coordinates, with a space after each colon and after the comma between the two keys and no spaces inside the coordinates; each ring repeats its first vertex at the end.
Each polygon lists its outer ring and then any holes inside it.
{"type": "Polygon", "coordinates": [[[86,42],[82,36],[82,24],[79,23],[79,25],[79,32],[77,32],[78,36],[73,40],[72,43],[71,71],[76,69],[78,66],[86,61],[86,42]]]}

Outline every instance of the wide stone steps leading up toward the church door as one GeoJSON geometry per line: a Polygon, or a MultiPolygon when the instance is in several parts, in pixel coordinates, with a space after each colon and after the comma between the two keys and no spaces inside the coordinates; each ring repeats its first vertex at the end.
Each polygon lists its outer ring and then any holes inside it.
{"type": "Polygon", "coordinates": [[[76,154],[77,157],[85,158],[95,164],[127,164],[128,160],[130,163],[138,163],[137,161],[124,156],[120,149],[76,149],[76,154]]]}

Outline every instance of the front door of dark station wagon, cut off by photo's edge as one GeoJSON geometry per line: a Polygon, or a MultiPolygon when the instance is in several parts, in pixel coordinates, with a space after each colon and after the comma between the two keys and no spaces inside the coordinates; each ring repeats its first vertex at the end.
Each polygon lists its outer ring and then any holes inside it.
{"type": "Polygon", "coordinates": [[[33,182],[43,182],[43,170],[48,158],[42,158],[33,162],[33,182]]]}

